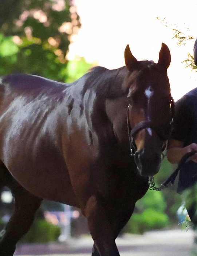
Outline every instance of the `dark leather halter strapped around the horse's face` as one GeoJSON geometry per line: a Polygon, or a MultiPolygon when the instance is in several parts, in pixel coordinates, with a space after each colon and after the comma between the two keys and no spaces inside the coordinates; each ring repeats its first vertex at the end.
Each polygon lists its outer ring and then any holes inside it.
{"type": "Polygon", "coordinates": [[[139,131],[146,129],[146,128],[151,128],[153,129],[159,138],[163,141],[163,147],[162,151],[165,150],[166,147],[166,140],[169,139],[169,135],[172,131],[173,128],[173,122],[174,122],[174,100],[173,98],[170,99],[170,110],[171,110],[171,121],[169,126],[166,126],[167,131],[166,134],[162,134],[162,132],[165,130],[164,127],[159,127],[157,125],[154,125],[151,121],[141,121],[137,125],[135,125],[132,129],[129,124],[129,104],[127,106],[127,130],[128,130],[128,135],[129,135],[129,144],[130,144],[130,154],[131,156],[135,156],[135,152],[137,151],[137,147],[135,145],[134,141],[134,135],[136,135],[139,131]],[[167,135],[167,136],[166,136],[167,135]]]}

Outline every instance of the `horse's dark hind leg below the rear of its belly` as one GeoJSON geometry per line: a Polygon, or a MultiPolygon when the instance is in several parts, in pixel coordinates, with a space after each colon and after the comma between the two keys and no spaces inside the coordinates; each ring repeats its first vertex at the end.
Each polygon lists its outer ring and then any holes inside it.
{"type": "Polygon", "coordinates": [[[35,212],[42,202],[42,199],[35,197],[20,185],[17,185],[12,192],[15,198],[15,210],[0,241],[1,256],[13,255],[16,243],[28,232],[34,221],[35,212]]]}

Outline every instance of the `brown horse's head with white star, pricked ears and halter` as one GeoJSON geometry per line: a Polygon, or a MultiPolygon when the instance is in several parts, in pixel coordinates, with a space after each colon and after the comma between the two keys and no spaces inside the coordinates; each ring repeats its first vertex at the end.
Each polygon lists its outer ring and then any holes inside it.
{"type": "Polygon", "coordinates": [[[161,154],[170,135],[173,118],[173,99],[170,94],[167,69],[171,57],[168,46],[162,43],[159,61],[137,61],[129,45],[125,63],[130,71],[125,79],[129,89],[127,124],[130,146],[142,176],[153,177],[159,171],[161,154]]]}

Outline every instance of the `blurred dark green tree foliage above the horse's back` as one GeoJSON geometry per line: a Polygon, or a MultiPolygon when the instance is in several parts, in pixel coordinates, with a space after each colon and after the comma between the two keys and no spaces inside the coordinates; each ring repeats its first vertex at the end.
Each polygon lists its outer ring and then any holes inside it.
{"type": "Polygon", "coordinates": [[[79,27],[70,0],[1,0],[0,75],[22,72],[65,81],[65,57],[79,27]]]}

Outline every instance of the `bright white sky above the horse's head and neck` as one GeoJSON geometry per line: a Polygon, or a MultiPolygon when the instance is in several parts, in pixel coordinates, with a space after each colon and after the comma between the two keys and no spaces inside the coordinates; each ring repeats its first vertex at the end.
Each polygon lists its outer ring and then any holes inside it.
{"type": "Polygon", "coordinates": [[[196,0],[74,0],[82,27],[70,45],[68,58],[85,57],[87,62],[109,69],[124,64],[124,50],[129,43],[138,60],[158,61],[161,43],[168,45],[172,61],[168,69],[174,100],[197,87],[197,72],[181,63],[188,52],[193,55],[191,40],[177,46],[172,30],[160,20],[176,24],[180,31],[189,27],[197,37],[196,0]]]}

